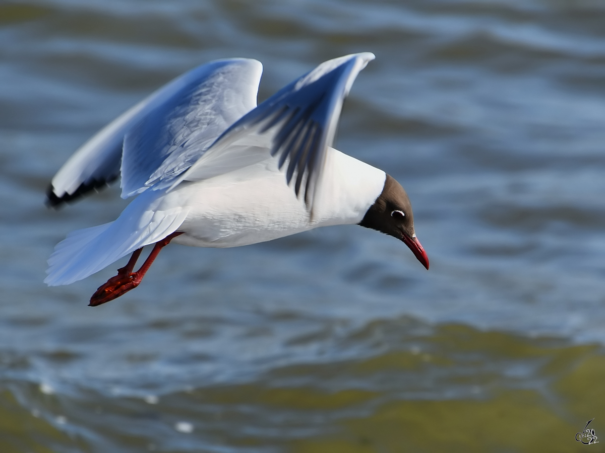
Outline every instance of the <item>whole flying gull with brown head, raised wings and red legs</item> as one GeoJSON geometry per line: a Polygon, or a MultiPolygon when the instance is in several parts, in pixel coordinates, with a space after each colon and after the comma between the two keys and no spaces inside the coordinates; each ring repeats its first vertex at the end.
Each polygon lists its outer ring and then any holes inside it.
{"type": "Polygon", "coordinates": [[[169,242],[238,247],[344,224],[396,237],[428,269],[401,184],[331,146],[342,102],[373,59],[358,53],[321,63],[258,106],[263,65],[215,60],[140,101],[52,179],[51,207],[119,176],[122,198],[136,198],[113,222],[59,242],[45,283],[70,284],[132,254],[91,297],[98,306],[136,288],[169,242]],[[152,251],[135,272],[146,245],[152,251]]]}

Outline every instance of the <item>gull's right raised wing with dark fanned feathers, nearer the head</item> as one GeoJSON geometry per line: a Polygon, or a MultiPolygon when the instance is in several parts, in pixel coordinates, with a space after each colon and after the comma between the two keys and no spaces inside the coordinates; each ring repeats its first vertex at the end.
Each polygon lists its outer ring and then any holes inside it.
{"type": "Polygon", "coordinates": [[[270,156],[286,168],[286,181],[312,209],[327,147],[332,145],[342,101],[371,53],[329,60],[244,115],[183,175],[174,179],[200,181],[231,172],[270,156]]]}

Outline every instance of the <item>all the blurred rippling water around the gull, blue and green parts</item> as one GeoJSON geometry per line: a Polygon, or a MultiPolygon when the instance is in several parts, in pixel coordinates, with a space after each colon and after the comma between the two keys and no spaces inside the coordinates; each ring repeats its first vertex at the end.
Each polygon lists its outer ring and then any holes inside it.
{"type": "Polygon", "coordinates": [[[0,451],[603,451],[605,4],[566,0],[0,2],[0,451]],[[90,135],[208,60],[259,98],[371,51],[336,147],[414,206],[430,271],[357,226],[167,247],[42,280],[128,201],[53,211],[90,135]]]}

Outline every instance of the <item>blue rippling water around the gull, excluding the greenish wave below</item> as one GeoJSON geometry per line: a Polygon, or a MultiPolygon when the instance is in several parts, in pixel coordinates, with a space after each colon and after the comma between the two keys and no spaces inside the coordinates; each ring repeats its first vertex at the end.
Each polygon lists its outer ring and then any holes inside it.
{"type": "Polygon", "coordinates": [[[356,333],[393,320],[429,336],[456,323],[605,344],[604,20],[599,2],[0,5],[0,381],[83,401],[161,397],[380,355],[405,341],[356,333]],[[404,185],[430,271],[390,237],[339,226],[235,249],[170,245],[139,288],[94,309],[90,295],[123,263],[42,283],[57,242],[128,203],[116,186],[58,211],[43,203],[60,165],[108,121],[212,59],[263,62],[263,100],[358,51],[376,60],[335,147],[404,185]]]}

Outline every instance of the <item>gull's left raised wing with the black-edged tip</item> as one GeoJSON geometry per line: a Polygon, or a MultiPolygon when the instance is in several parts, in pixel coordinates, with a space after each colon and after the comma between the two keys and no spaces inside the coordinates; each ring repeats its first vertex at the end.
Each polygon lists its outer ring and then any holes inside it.
{"type": "Polygon", "coordinates": [[[123,198],[175,178],[256,106],[262,70],[257,60],[217,60],[172,80],[83,144],[51,181],[48,203],[102,187],[120,170],[123,198]]]}

